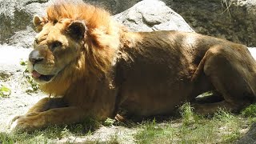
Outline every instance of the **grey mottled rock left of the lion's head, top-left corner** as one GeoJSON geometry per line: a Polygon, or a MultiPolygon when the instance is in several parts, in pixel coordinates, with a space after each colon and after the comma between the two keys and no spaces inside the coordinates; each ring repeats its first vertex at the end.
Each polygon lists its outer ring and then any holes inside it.
{"type": "Polygon", "coordinates": [[[0,44],[28,48],[35,32],[34,14],[44,14],[47,0],[0,1],[0,44]]]}

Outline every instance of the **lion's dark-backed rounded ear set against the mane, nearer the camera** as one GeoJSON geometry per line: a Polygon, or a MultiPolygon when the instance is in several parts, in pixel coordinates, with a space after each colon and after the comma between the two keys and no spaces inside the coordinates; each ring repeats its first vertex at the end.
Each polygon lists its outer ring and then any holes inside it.
{"type": "Polygon", "coordinates": [[[86,32],[86,23],[83,21],[73,21],[70,26],[66,29],[67,33],[70,34],[71,38],[82,39],[86,32]]]}

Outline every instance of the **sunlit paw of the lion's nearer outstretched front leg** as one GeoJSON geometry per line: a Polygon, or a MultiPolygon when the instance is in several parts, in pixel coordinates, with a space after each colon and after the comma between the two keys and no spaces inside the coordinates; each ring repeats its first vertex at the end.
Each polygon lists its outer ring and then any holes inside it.
{"type": "Polygon", "coordinates": [[[14,117],[10,122],[10,130],[15,132],[31,131],[42,128],[43,118],[40,114],[26,114],[14,117]]]}

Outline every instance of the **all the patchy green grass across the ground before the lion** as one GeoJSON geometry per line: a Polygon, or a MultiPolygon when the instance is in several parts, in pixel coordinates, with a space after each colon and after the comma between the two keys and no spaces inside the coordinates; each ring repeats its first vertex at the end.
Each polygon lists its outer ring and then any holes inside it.
{"type": "MultiPolygon", "coordinates": [[[[179,118],[166,118],[165,121],[150,119],[134,124],[138,130],[133,135],[135,143],[234,143],[249,128],[254,117],[256,105],[248,106],[241,114],[231,114],[226,110],[218,110],[213,116],[204,117],[194,114],[190,103],[180,107],[179,118]],[[243,132],[242,132],[243,131],[243,132]]],[[[0,133],[0,143],[56,143],[66,138],[66,143],[74,143],[76,138],[94,135],[99,126],[117,126],[118,122],[107,118],[105,122],[86,119],[84,122],[71,126],[51,126],[46,130],[33,134],[0,133]]],[[[118,123],[119,124],[119,123],[118,123]]],[[[124,126],[122,123],[119,126],[124,126]]],[[[104,132],[108,133],[108,131],[104,132]]],[[[120,136],[114,134],[103,143],[119,143],[120,136]]],[[[86,143],[102,143],[101,139],[86,143]]]]}

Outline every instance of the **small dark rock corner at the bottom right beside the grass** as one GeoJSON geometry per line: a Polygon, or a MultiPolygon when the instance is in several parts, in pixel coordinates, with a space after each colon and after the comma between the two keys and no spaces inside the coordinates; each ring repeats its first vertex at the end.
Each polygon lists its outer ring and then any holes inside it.
{"type": "Polygon", "coordinates": [[[237,144],[256,144],[256,123],[252,124],[250,130],[248,130],[237,144]]]}

